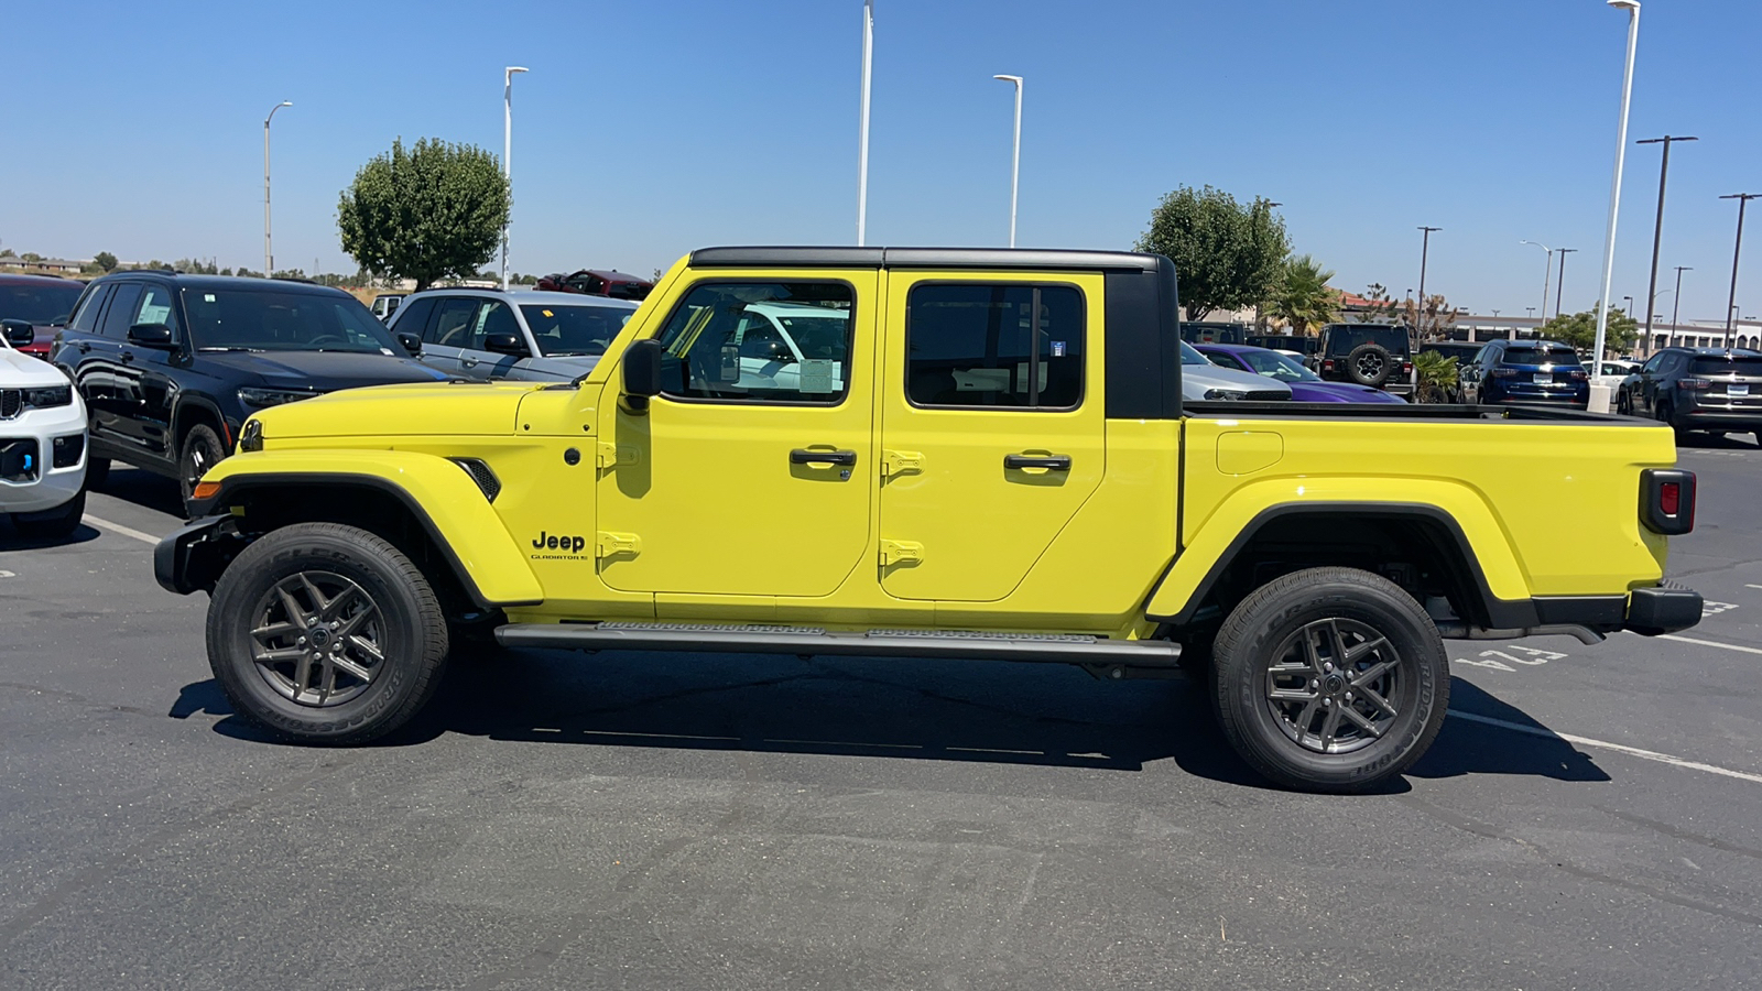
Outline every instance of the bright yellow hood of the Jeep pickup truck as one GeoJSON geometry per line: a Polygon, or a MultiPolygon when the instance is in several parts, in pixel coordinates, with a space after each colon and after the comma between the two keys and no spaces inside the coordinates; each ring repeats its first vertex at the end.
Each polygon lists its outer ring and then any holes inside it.
{"type": "Polygon", "coordinates": [[[536,383],[467,383],[374,386],[335,391],[257,413],[263,436],[287,437],[411,437],[507,436],[515,432],[520,399],[536,383]]]}

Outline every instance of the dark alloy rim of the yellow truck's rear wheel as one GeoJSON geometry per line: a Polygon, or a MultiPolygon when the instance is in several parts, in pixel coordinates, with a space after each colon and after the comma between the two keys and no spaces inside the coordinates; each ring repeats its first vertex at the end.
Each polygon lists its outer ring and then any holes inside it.
{"type": "Polygon", "coordinates": [[[1403,682],[1401,654],[1388,637],[1357,619],[1318,619],[1272,654],[1267,709],[1304,749],[1351,753],[1394,726],[1403,682]]]}

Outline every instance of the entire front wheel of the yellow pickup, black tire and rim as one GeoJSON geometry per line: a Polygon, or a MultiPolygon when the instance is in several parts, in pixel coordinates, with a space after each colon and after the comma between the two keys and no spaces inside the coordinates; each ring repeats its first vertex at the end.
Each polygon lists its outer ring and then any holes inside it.
{"type": "Polygon", "coordinates": [[[359,744],[396,730],[433,697],[446,659],[446,614],[428,578],[396,547],[342,524],[257,540],[208,605],[215,679],[238,712],[289,741],[359,744]]]}

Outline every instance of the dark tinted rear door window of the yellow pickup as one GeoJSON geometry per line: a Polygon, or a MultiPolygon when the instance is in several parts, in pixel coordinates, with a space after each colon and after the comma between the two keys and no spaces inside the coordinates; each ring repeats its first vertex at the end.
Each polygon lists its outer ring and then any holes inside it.
{"type": "MultiPolygon", "coordinates": [[[[1075,409],[1084,397],[1084,330],[1075,286],[914,286],[906,300],[906,397],[914,406],[1075,409]]],[[[1182,354],[1189,349],[1182,342],[1182,354]]]]}

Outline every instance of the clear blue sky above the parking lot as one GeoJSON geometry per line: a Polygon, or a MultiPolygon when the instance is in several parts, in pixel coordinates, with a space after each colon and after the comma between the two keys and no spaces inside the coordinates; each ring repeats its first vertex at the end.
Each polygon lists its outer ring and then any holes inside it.
{"type": "MultiPolygon", "coordinates": [[[[1129,247],[1181,183],[1283,201],[1336,286],[1418,282],[1522,314],[1542,252],[1596,294],[1626,16],[1602,0],[877,0],[869,243],[1129,247]]],[[[712,243],[851,243],[860,0],[12,4],[0,243],[46,256],[352,270],[337,196],[393,138],[502,146],[513,268],[647,273],[712,243]]],[[[1718,319],[1736,210],[1762,192],[1755,0],[1646,0],[1632,138],[1672,153],[1663,266],[1718,319]]],[[[1658,152],[1630,148],[1612,296],[1640,296],[1658,152]]],[[[1762,227],[1762,203],[1755,212],[1762,227]]],[[[1762,238],[1762,231],[1757,233],[1762,238]]],[[[1762,240],[1739,284],[1762,314],[1762,240]]],[[[1662,280],[1662,287],[1669,282],[1662,280]]],[[[1669,312],[1669,296],[1660,300],[1669,312]]]]}

